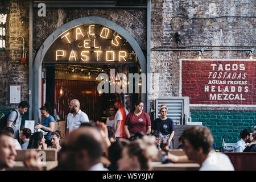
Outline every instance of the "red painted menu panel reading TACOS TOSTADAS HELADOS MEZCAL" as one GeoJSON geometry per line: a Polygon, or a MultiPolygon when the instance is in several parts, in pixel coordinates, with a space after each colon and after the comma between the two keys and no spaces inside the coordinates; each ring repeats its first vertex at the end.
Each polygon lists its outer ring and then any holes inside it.
{"type": "Polygon", "coordinates": [[[256,103],[256,61],[182,60],[182,96],[190,104],[256,103]]]}

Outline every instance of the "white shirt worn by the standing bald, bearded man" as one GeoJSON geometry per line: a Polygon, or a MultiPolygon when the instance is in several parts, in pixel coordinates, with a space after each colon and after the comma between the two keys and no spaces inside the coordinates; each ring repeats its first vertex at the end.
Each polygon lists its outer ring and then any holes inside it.
{"type": "Polygon", "coordinates": [[[69,133],[71,133],[72,130],[79,128],[81,123],[86,122],[89,122],[88,115],[81,111],[81,109],[75,117],[72,113],[69,113],[67,117],[67,129],[69,129],[69,133]]]}

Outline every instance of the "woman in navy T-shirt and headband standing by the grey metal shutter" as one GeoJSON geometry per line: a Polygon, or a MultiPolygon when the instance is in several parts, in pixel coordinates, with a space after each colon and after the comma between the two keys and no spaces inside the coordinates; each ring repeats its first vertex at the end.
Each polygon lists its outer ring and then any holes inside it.
{"type": "Polygon", "coordinates": [[[174,138],[174,122],[167,115],[167,106],[162,104],[160,109],[160,118],[152,123],[152,133],[158,131],[163,134],[163,140],[166,140],[169,148],[172,149],[172,138],[174,138]]]}

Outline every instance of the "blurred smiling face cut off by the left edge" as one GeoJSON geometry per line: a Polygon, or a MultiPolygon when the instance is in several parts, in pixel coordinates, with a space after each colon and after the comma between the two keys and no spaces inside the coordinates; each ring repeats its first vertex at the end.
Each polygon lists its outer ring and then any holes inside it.
{"type": "Polygon", "coordinates": [[[0,171],[13,167],[16,155],[13,135],[6,131],[0,131],[0,171]]]}

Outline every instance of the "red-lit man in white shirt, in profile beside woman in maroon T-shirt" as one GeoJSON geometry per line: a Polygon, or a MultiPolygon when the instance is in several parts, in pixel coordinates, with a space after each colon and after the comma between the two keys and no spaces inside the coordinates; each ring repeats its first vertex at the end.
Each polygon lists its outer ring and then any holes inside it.
{"type": "Polygon", "coordinates": [[[121,136],[122,122],[125,122],[125,117],[129,113],[129,111],[127,111],[125,107],[123,107],[121,100],[116,100],[114,106],[115,106],[115,109],[118,110],[117,113],[115,114],[115,125],[114,125],[114,139],[115,139],[115,138],[123,137],[121,136]],[[122,110],[124,110],[125,113],[122,114],[122,110]]]}

